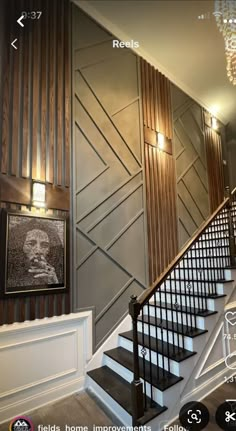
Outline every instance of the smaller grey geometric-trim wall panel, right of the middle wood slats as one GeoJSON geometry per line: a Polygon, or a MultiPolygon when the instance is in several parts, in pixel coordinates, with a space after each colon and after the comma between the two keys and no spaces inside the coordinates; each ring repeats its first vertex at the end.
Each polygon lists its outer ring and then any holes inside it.
{"type": "Polygon", "coordinates": [[[202,108],[172,85],[174,157],[177,173],[179,246],[209,215],[202,108]]]}

